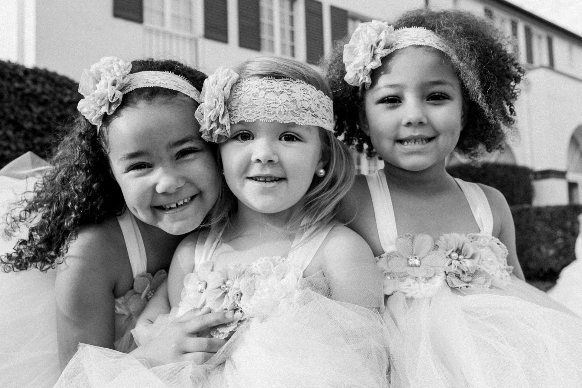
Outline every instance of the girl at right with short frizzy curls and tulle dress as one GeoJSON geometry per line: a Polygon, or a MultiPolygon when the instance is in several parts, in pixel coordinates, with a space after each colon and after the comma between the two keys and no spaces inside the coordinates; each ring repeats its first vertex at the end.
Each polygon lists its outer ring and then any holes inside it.
{"type": "Polygon", "coordinates": [[[341,218],[385,275],[391,387],[582,383],[582,321],[523,281],[502,194],[445,170],[514,123],[523,69],[498,36],[469,13],[418,10],[360,24],[328,69],[338,133],[384,159],[341,218]]]}

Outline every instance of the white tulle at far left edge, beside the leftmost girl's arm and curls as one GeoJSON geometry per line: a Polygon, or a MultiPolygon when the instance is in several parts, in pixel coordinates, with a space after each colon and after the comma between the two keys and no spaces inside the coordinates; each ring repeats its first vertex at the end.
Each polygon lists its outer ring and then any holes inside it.
{"type": "MultiPolygon", "coordinates": [[[[10,205],[30,190],[36,179],[0,176],[2,221],[10,205]]],[[[3,232],[5,225],[0,227],[3,232]]],[[[12,251],[17,239],[0,233],[0,255],[12,251]]],[[[52,387],[61,374],[56,346],[55,270],[0,272],[0,387],[52,387]]]]}

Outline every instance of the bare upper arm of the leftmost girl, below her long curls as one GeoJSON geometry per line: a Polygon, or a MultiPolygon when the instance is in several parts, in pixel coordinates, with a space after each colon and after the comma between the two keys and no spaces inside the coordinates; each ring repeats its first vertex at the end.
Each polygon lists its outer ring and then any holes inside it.
{"type": "MultiPolygon", "coordinates": [[[[79,343],[113,348],[114,290],[123,264],[104,228],[80,230],[56,273],[59,359],[65,368],[79,343]]],[[[115,240],[113,240],[115,241],[115,240]]],[[[131,273],[131,269],[129,268],[131,273]]]]}

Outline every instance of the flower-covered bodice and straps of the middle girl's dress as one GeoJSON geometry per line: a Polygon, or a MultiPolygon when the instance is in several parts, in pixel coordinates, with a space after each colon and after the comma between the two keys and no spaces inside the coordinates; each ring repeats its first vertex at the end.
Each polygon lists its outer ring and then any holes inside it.
{"type": "MultiPolygon", "coordinates": [[[[215,268],[212,262],[219,241],[202,232],[195,253],[195,270],[184,277],[178,316],[193,308],[232,311],[235,321],[211,330],[213,337],[226,338],[247,319],[284,311],[299,294],[303,271],[331,227],[293,248],[287,258],[262,257],[250,264],[223,269],[215,268]]],[[[292,246],[298,241],[296,238],[292,246]]]]}

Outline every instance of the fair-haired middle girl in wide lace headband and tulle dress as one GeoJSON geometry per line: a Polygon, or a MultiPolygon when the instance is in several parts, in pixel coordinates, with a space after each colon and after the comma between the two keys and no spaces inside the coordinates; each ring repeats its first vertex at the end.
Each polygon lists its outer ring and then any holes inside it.
{"type": "Polygon", "coordinates": [[[222,142],[225,190],[212,231],[180,243],[169,302],[159,293],[144,312],[171,314],[135,331],[147,342],[182,312],[210,307],[235,316],[210,334],[232,337],[201,366],[148,358],[147,369],[84,347],[58,386],[91,376],[95,386],[386,386],[382,276],[363,239],[332,221],[354,166],[331,131],[324,79],[290,59],[254,58],[219,69],[202,94],[196,116],[203,137],[222,142]]]}

